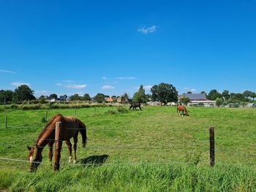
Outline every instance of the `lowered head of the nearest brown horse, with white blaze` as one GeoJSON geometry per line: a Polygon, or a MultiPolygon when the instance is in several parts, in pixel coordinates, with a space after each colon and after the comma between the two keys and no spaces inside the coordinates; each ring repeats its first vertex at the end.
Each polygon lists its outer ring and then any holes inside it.
{"type": "Polygon", "coordinates": [[[28,145],[27,148],[29,150],[29,172],[35,172],[37,171],[37,166],[39,166],[42,161],[41,150],[39,150],[38,146],[29,147],[28,145]]]}

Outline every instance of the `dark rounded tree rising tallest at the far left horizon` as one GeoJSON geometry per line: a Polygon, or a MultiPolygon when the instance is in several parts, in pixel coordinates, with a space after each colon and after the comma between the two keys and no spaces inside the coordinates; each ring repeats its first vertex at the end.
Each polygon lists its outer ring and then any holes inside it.
{"type": "Polygon", "coordinates": [[[28,85],[20,85],[18,88],[15,88],[14,97],[15,101],[36,99],[34,97],[34,91],[32,91],[28,85]]]}

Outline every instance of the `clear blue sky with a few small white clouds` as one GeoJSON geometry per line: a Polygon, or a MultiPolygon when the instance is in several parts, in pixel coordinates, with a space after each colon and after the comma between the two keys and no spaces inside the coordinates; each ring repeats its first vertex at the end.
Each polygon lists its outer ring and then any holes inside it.
{"type": "Polygon", "coordinates": [[[256,1],[0,1],[0,89],[256,91],[256,1]]]}

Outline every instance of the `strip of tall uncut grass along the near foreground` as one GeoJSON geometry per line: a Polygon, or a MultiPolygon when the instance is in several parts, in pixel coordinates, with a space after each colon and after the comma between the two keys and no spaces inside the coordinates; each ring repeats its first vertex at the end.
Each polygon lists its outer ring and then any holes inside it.
{"type": "Polygon", "coordinates": [[[10,191],[256,191],[256,172],[242,166],[191,164],[115,164],[67,167],[34,174],[0,172],[10,191]]]}

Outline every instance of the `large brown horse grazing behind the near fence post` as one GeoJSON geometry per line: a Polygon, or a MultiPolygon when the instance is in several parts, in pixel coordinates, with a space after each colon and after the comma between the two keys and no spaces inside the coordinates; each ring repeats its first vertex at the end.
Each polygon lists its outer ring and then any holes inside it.
{"type": "Polygon", "coordinates": [[[74,164],[76,163],[76,149],[78,143],[78,132],[82,135],[83,147],[86,146],[86,126],[78,118],[64,117],[61,114],[53,116],[49,123],[42,130],[41,134],[34,144],[34,147],[28,147],[29,149],[29,171],[34,172],[42,162],[42,150],[48,145],[49,147],[49,158],[52,161],[53,158],[53,144],[55,139],[55,124],[61,122],[61,134],[59,136],[59,148],[55,154],[54,170],[59,170],[59,160],[61,158],[61,146],[62,142],[66,142],[69,149],[69,162],[72,160],[72,144],[70,139],[74,139],[74,164]]]}

